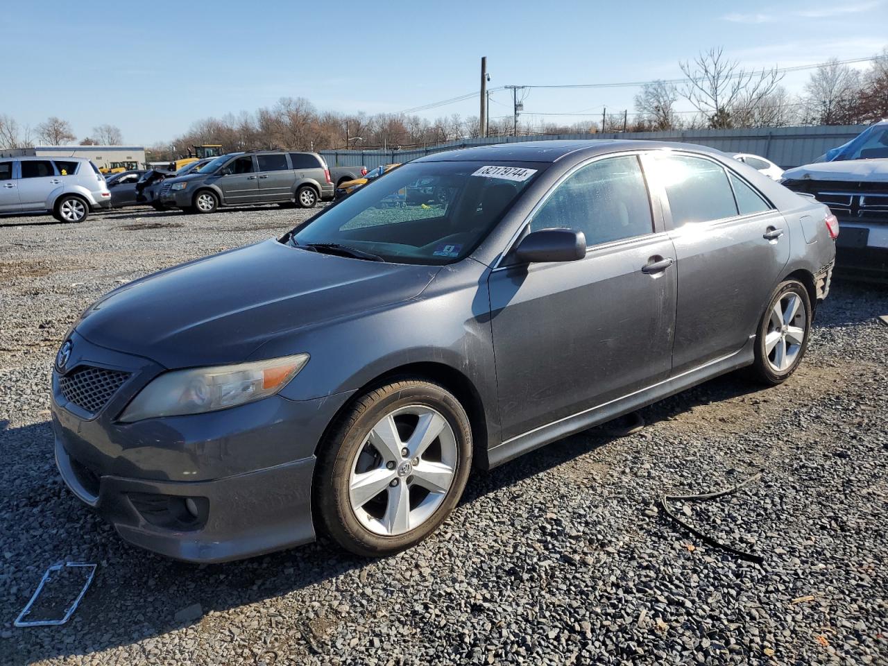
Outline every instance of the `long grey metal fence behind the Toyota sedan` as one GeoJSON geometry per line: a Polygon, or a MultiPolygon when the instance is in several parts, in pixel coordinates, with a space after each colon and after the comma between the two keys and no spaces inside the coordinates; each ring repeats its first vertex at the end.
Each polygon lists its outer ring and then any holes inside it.
{"type": "Polygon", "coordinates": [[[453,150],[494,143],[535,139],[655,139],[683,141],[718,148],[725,153],[762,155],[783,169],[812,163],[829,148],[841,146],[866,129],[866,125],[819,125],[802,127],[757,127],[742,130],[629,131],[602,134],[559,134],[526,137],[491,137],[459,139],[410,150],[321,150],[331,166],[361,166],[368,169],[381,164],[405,163],[442,150],[453,150]]]}

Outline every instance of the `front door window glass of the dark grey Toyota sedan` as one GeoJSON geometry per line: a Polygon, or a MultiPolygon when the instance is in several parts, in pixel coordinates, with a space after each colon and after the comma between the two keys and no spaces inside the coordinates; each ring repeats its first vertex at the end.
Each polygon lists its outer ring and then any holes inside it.
{"type": "Polygon", "coordinates": [[[636,155],[608,157],[576,170],[530,221],[582,231],[586,245],[619,241],[654,231],[645,177],[636,155]]]}

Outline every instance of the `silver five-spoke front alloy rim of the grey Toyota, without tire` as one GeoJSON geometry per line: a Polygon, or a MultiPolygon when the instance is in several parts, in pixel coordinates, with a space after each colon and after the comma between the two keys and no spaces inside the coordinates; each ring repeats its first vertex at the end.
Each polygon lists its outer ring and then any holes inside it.
{"type": "Polygon", "coordinates": [[[429,519],[448,496],[457,467],[456,435],[424,405],[383,416],[352,463],[349,500],[361,525],[377,535],[402,535],[429,519]]]}

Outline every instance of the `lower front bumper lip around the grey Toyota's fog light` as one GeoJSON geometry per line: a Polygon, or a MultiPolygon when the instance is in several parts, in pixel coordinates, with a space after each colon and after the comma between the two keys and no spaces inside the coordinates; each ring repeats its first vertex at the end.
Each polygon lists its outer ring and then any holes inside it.
{"type": "Polygon", "coordinates": [[[107,519],[124,540],[188,562],[225,562],[314,540],[311,488],[314,456],[210,481],[90,478],[55,442],[56,464],[68,488],[107,519]],[[194,498],[208,510],[194,528],[156,525],[145,497],[194,498]],[[142,499],[144,502],[144,499],[142,499]]]}

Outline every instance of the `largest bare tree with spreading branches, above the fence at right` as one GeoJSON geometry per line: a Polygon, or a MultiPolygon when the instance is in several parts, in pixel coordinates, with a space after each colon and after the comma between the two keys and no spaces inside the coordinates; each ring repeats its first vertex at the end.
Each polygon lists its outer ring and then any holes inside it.
{"type": "Polygon", "coordinates": [[[741,99],[747,106],[757,106],[783,78],[776,68],[741,67],[737,60],[728,59],[721,47],[701,52],[693,63],[679,62],[678,67],[687,77],[682,96],[716,129],[733,126],[731,109],[741,99]]]}

